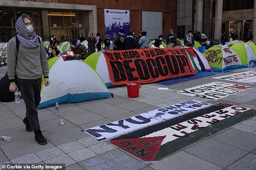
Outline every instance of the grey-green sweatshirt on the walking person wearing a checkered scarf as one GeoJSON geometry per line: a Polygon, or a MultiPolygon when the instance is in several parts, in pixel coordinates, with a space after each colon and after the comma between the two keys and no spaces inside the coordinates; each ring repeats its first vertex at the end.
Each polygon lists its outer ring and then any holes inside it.
{"type": "Polygon", "coordinates": [[[44,74],[44,77],[48,77],[49,66],[42,41],[41,47],[36,48],[25,48],[20,43],[17,61],[16,55],[16,37],[13,37],[8,42],[7,48],[7,72],[10,82],[14,82],[15,74],[17,78],[30,80],[41,78],[42,74],[44,74]]]}

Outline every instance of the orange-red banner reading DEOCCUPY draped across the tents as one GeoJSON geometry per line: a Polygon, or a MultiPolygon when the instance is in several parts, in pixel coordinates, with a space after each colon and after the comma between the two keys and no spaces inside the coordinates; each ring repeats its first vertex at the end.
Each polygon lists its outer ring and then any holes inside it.
{"type": "Polygon", "coordinates": [[[185,48],[103,51],[103,54],[114,85],[149,83],[196,74],[185,48]]]}

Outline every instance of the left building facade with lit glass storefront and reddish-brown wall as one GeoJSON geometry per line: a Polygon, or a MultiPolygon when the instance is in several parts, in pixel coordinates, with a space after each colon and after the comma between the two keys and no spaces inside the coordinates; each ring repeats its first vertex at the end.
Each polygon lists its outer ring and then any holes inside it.
{"type": "Polygon", "coordinates": [[[0,0],[0,42],[16,35],[15,22],[28,14],[44,41],[55,35],[60,42],[105,35],[104,9],[129,10],[130,30],[147,31],[149,39],[166,36],[177,27],[177,0],[0,0]]]}

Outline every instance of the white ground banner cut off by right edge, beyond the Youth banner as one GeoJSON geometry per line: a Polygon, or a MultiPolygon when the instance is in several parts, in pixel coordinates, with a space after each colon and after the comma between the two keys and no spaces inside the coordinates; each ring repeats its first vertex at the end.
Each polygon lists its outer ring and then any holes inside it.
{"type": "Polygon", "coordinates": [[[227,76],[220,76],[220,77],[213,77],[213,78],[220,79],[220,80],[230,80],[234,82],[255,84],[256,72],[249,71],[249,72],[235,73],[227,76]]]}

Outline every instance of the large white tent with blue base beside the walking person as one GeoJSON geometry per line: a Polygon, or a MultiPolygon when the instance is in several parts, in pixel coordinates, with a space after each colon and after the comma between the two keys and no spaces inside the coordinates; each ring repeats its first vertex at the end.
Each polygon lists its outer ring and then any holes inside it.
{"type": "Polygon", "coordinates": [[[48,64],[50,86],[44,86],[43,77],[38,109],[111,96],[99,74],[77,57],[53,57],[48,64]]]}

